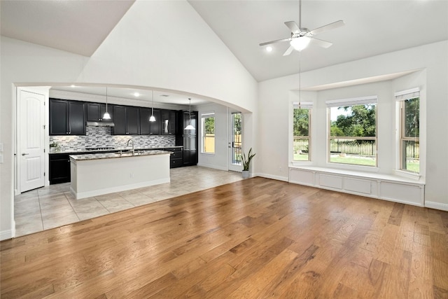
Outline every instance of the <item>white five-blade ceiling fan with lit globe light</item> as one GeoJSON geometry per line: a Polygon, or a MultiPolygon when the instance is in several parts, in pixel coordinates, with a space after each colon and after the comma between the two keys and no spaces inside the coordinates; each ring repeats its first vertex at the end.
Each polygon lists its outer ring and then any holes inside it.
{"type": "Polygon", "coordinates": [[[339,20],[336,22],[332,22],[322,27],[318,27],[313,30],[309,30],[308,28],[302,28],[302,0],[299,0],[299,25],[297,25],[294,21],[285,22],[285,25],[291,31],[291,37],[287,39],[277,39],[276,41],[267,41],[265,43],[260,43],[260,46],[267,46],[272,43],[280,43],[282,41],[289,41],[290,46],[283,53],[283,56],[290,55],[293,50],[301,51],[308,46],[309,43],[314,43],[317,46],[321,46],[322,48],[328,48],[332,45],[329,41],[323,41],[321,39],[316,39],[314,36],[317,34],[321,34],[330,29],[335,29],[337,27],[341,27],[344,25],[344,21],[339,20]]]}

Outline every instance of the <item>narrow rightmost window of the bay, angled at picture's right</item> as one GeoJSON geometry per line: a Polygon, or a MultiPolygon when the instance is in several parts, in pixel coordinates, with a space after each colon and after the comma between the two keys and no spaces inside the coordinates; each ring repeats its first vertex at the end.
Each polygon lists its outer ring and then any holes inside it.
{"type": "Polygon", "coordinates": [[[420,172],[420,92],[418,89],[397,92],[400,103],[400,169],[420,172]]]}

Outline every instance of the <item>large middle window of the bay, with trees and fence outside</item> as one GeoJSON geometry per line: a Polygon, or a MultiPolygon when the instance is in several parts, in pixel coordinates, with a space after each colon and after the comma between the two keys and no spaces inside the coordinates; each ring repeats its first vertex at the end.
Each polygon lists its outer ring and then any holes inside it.
{"type": "Polygon", "coordinates": [[[377,166],[377,97],[326,102],[328,161],[377,166]]]}

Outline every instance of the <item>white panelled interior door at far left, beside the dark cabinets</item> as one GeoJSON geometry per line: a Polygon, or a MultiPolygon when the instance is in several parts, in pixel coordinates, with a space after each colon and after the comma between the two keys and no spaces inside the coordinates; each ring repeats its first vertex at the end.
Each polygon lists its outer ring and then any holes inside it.
{"type": "Polygon", "coordinates": [[[45,184],[45,96],[20,90],[20,192],[45,184]]]}

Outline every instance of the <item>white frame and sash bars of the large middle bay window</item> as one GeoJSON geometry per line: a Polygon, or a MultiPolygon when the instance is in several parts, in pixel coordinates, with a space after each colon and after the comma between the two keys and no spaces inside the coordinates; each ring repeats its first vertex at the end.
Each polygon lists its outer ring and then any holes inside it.
{"type": "Polygon", "coordinates": [[[328,115],[328,134],[327,134],[327,163],[331,163],[331,165],[346,165],[349,167],[368,167],[370,169],[378,167],[378,97],[375,96],[367,96],[367,97],[355,97],[350,99],[335,99],[328,100],[325,102],[327,105],[327,115],[328,115]],[[346,107],[346,106],[358,106],[358,105],[367,105],[374,104],[375,109],[375,136],[369,137],[358,137],[358,136],[331,136],[331,108],[334,107],[346,107]],[[373,140],[374,141],[374,165],[362,165],[362,164],[353,164],[353,163],[344,163],[344,162],[332,162],[331,161],[331,140],[332,139],[346,139],[346,140],[373,140]]]}

